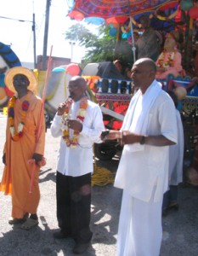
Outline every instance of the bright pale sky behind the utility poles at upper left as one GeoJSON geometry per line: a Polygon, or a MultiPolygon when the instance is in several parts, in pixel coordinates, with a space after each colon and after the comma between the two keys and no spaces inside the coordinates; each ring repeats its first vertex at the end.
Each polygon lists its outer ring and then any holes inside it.
{"type": "MultiPolygon", "coordinates": [[[[33,13],[35,13],[36,20],[37,55],[42,55],[46,0],[0,0],[0,3],[2,3],[0,8],[0,42],[11,44],[11,48],[20,58],[20,61],[33,62],[33,32],[31,30],[33,13]],[[18,20],[26,21],[20,22],[18,20]]],[[[65,41],[64,32],[75,21],[67,18],[67,13],[66,0],[51,1],[48,27],[48,55],[51,46],[53,46],[52,55],[71,58],[71,45],[65,41]]],[[[83,51],[77,45],[74,46],[73,62],[81,61],[83,51]]]]}

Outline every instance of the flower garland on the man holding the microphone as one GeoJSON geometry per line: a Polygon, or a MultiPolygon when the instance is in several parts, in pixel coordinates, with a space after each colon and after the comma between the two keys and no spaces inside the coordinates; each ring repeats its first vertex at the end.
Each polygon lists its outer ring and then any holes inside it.
{"type": "MultiPolygon", "coordinates": [[[[62,115],[62,133],[63,133],[63,139],[65,140],[66,146],[70,148],[76,148],[78,144],[78,137],[80,132],[79,131],[74,131],[73,132],[73,137],[70,137],[70,130],[68,127],[68,119],[70,116],[70,109],[71,109],[71,103],[67,102],[68,108],[66,108],[65,113],[62,115]]],[[[88,97],[82,97],[79,109],[77,111],[77,116],[76,120],[80,121],[83,123],[85,114],[86,114],[86,109],[88,108],[88,97]]]]}

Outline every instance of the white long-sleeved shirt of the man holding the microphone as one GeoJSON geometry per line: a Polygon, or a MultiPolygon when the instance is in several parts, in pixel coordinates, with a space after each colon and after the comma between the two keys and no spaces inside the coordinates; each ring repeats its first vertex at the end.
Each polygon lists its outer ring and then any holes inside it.
{"type": "MultiPolygon", "coordinates": [[[[76,119],[80,102],[71,105],[71,119],[76,119]]],[[[62,138],[61,116],[55,115],[50,127],[53,137],[61,137],[57,161],[57,171],[63,175],[78,177],[93,172],[93,143],[99,142],[102,131],[105,131],[103,115],[99,105],[88,101],[82,131],[76,148],[68,148],[62,138]]]]}

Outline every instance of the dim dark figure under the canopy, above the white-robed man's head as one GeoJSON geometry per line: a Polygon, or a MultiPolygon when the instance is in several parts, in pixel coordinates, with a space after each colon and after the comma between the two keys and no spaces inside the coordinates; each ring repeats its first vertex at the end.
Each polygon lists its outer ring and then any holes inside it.
{"type": "Polygon", "coordinates": [[[140,23],[144,32],[139,36],[136,42],[138,59],[150,58],[153,61],[156,61],[159,55],[160,44],[157,41],[155,30],[150,27],[149,16],[142,16],[140,18],[140,23]]]}

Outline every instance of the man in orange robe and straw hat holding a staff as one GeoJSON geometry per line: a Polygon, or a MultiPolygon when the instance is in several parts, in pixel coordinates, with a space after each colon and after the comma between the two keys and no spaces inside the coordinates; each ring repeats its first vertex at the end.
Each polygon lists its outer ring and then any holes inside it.
{"type": "Polygon", "coordinates": [[[6,142],[3,149],[5,166],[0,191],[12,196],[12,218],[8,223],[21,224],[22,229],[30,230],[38,224],[38,175],[43,164],[45,143],[42,100],[32,91],[37,85],[37,79],[25,67],[11,68],[6,74],[5,84],[14,92],[14,96],[8,102],[6,142]],[[36,168],[30,193],[34,164],[36,168]]]}

